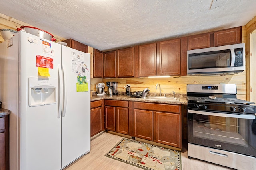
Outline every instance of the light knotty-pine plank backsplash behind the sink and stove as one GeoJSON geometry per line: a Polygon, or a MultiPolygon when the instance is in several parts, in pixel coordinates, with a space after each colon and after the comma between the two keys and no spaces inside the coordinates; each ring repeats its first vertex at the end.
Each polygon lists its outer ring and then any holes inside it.
{"type": "MultiPolygon", "coordinates": [[[[239,74],[226,76],[181,76],[178,78],[113,78],[101,79],[91,78],[91,90],[96,91],[96,84],[107,81],[118,82],[118,91],[125,92],[124,86],[131,84],[131,91],[142,91],[144,88],[149,88],[151,93],[159,93],[159,86],[156,89],[156,84],[161,86],[161,93],[187,93],[187,84],[236,84],[237,98],[246,100],[246,73],[245,71],[239,74]]],[[[105,88],[107,91],[107,88],[105,88]]]]}

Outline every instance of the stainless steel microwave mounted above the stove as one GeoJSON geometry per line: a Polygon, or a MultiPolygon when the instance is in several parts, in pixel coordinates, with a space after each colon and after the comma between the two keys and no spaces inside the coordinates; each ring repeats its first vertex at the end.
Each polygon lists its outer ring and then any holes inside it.
{"type": "Polygon", "coordinates": [[[188,50],[187,74],[238,73],[245,70],[245,45],[188,50]]]}

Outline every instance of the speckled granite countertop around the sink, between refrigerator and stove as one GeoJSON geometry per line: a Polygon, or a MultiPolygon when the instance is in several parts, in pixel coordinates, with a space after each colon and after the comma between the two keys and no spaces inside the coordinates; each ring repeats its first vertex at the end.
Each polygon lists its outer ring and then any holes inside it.
{"type": "Polygon", "coordinates": [[[188,104],[188,100],[185,95],[176,96],[180,97],[180,101],[167,101],[167,100],[152,100],[152,99],[142,99],[142,98],[134,98],[126,95],[93,95],[91,97],[91,102],[96,100],[102,100],[102,99],[110,99],[110,100],[128,100],[128,101],[136,101],[136,102],[152,102],[152,103],[164,103],[164,104],[188,104]]]}

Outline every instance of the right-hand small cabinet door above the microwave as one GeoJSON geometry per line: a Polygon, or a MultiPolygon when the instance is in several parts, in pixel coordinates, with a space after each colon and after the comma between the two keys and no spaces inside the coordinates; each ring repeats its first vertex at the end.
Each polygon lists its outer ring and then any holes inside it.
{"type": "Polygon", "coordinates": [[[214,47],[241,43],[242,27],[225,29],[214,33],[214,47]]]}

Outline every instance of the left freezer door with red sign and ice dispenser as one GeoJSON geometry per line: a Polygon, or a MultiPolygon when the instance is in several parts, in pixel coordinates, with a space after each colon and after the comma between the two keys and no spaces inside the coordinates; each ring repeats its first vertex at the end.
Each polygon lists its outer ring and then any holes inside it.
{"type": "MultiPolygon", "coordinates": [[[[61,45],[24,32],[17,35],[20,35],[20,169],[57,170],[61,168],[58,103],[30,107],[28,98],[29,77],[40,77],[40,81],[58,80],[61,45]],[[34,43],[28,38],[33,38],[34,43]],[[40,69],[47,61],[51,61],[49,68],[41,74],[49,75],[40,76],[40,69]]],[[[58,96],[58,86],[54,91],[58,96]]]]}

